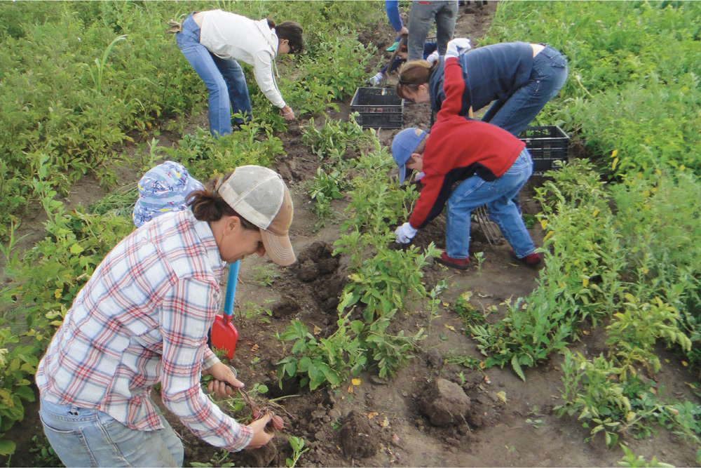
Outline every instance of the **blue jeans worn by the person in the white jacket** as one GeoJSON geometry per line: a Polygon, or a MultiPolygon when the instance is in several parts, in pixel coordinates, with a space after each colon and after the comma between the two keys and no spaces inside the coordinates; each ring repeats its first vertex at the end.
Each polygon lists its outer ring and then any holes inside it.
{"type": "MultiPolygon", "coordinates": [[[[182,23],[182,32],[175,34],[175,41],[195,72],[209,91],[210,132],[217,135],[231,133],[231,109],[250,120],[251,100],[243,69],[236,60],[217,57],[200,44],[200,28],[192,15],[182,23]]],[[[236,123],[244,123],[236,119],[236,123]]]]}

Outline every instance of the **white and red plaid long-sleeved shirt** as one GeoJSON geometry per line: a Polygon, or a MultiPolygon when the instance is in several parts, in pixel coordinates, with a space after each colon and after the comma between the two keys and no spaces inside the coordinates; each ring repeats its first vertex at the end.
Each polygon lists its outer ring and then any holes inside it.
{"type": "Polygon", "coordinates": [[[47,401],[95,408],[132,429],[162,429],[149,398],[213,446],[245,448],[253,432],[224,414],[200,386],[219,359],[207,331],[219,310],[219,257],[207,222],[167,213],[118,243],[78,293],[36,371],[47,401]]]}

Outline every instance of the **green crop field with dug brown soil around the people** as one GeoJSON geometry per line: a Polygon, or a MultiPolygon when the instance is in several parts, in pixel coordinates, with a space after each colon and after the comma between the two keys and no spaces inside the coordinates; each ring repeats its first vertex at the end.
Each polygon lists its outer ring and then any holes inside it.
{"type": "MultiPolygon", "coordinates": [[[[278,171],[298,255],[241,262],[229,361],[285,429],[226,453],[166,415],[186,466],[701,464],[701,3],[478,3],[456,36],[547,43],[569,62],[532,123],[563,128],[573,156],[522,194],[538,269],[478,223],[470,269],[438,265],[444,215],[395,248],[418,196],[393,180],[398,130],[350,116],[388,60],[381,1],[0,4],[0,462],[60,463],[36,366],[134,229],[137,180],[172,160],[198,180],[278,171]],[[244,66],[254,119],[210,136],[205,86],[166,34],[210,8],[303,25],[305,53],[277,63],[297,121],[244,66]]],[[[429,123],[407,104],[404,127],[429,123]]],[[[250,421],[242,399],[218,403],[250,421]]]]}

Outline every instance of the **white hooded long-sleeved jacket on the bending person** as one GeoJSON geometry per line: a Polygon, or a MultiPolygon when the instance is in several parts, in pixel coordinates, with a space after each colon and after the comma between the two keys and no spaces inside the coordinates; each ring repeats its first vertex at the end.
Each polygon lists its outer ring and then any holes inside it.
{"type": "Polygon", "coordinates": [[[222,10],[203,11],[200,44],[219,58],[243,60],[253,67],[253,75],[263,94],[275,107],[285,107],[273,74],[278,55],[278,36],[268,20],[254,21],[222,10]]]}

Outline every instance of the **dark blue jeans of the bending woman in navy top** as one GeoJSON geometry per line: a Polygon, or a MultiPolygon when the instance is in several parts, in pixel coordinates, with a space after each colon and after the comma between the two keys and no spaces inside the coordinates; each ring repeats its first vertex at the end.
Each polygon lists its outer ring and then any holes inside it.
{"type": "MultiPolygon", "coordinates": [[[[496,100],[482,117],[505,131],[518,136],[548,101],[557,95],[567,81],[567,60],[550,46],[533,57],[528,83],[507,100],[496,100]]],[[[477,110],[477,109],[475,109],[477,110]]]]}

